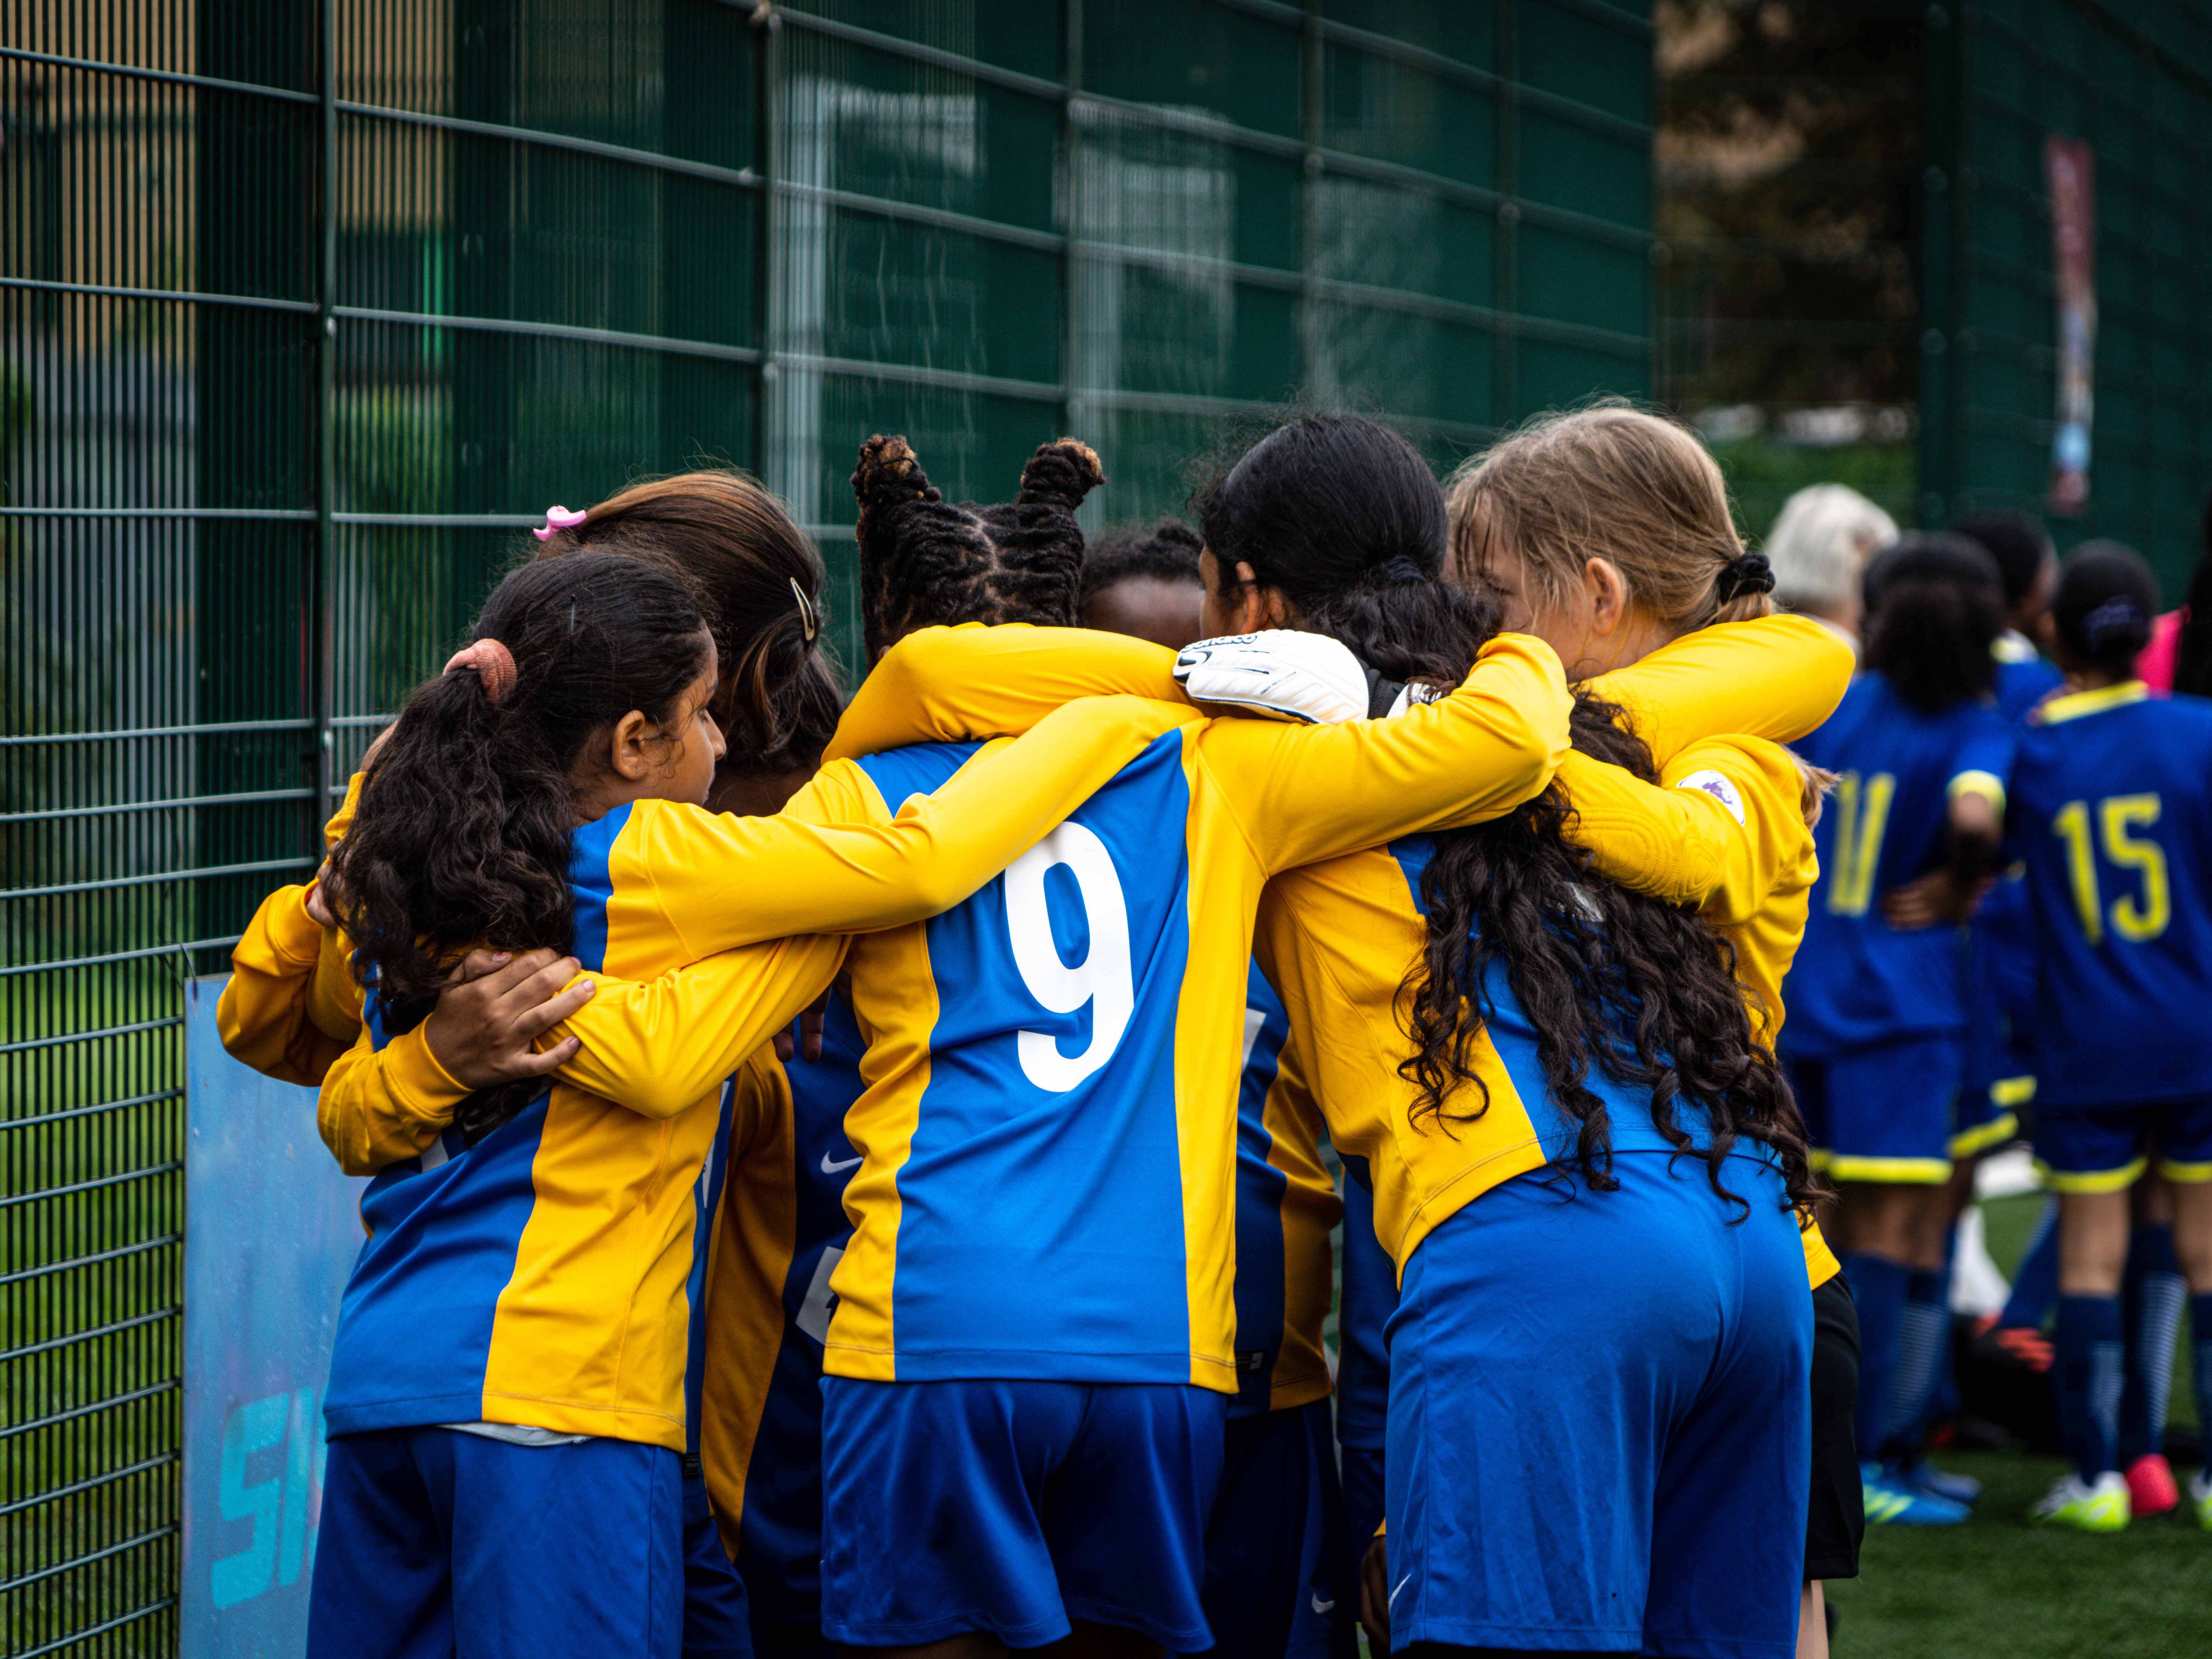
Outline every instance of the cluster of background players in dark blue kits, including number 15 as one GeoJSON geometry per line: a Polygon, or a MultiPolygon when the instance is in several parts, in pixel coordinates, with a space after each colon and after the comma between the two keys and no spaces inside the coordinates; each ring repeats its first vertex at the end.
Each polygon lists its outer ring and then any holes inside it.
{"type": "MultiPolygon", "coordinates": [[[[1843,1186],[1869,1517],[1955,1524],[1975,1498],[1916,1449],[1949,1334],[1958,1168],[2033,1102],[2073,1464],[2035,1517],[2106,1533],[2181,1502],[2161,1440],[2183,1294],[2212,1352],[2212,703],[2137,679],[2157,584],[2132,551],[2088,544],[2059,566],[2026,522],[1960,531],[1869,566],[1867,672],[1801,745],[1840,783],[1783,1053],[1843,1186]],[[2022,622],[2044,624],[2055,668],[2022,622]],[[2137,1272],[2146,1241],[2163,1272],[2137,1272]],[[2163,1318],[2137,1296],[2132,1334],[2124,1276],[2174,1285],[2163,1318]]],[[[2212,1411],[2203,1374],[2199,1400],[2212,1411]]],[[[2203,1475],[2188,1509],[2212,1528],[2203,1475]]]]}

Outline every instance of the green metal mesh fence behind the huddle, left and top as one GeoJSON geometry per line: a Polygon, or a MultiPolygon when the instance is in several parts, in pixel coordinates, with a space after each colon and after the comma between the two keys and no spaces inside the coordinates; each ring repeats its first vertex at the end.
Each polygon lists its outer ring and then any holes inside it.
{"type": "Polygon", "coordinates": [[[0,11],[0,1646],[161,1652],[179,980],[522,526],[1281,400],[1438,460],[1648,387],[1650,29],[1601,0],[15,0],[0,11]]]}

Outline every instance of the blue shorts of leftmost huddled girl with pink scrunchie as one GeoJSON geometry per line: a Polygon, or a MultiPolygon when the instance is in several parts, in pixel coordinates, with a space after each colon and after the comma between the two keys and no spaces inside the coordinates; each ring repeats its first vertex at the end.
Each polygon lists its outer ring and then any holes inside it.
{"type": "Polygon", "coordinates": [[[310,1659],[684,1652],[684,1460],[456,1429],[330,1442],[310,1659]]]}

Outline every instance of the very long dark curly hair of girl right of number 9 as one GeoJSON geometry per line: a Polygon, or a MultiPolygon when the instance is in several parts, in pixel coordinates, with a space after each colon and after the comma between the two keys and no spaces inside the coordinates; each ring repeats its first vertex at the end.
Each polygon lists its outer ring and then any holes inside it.
{"type": "MultiPolygon", "coordinates": [[[[1334,635],[1389,679],[1458,686],[1498,633],[1486,593],[1438,580],[1447,520],[1427,462],[1371,420],[1279,427],[1206,484],[1199,513],[1221,566],[1252,564],[1256,582],[1298,606],[1298,626],[1334,635]]],[[[1575,748],[1650,781],[1650,752],[1617,714],[1579,697],[1575,748]]],[[[1790,1199],[1807,1201],[1805,1128],[1774,1055],[1752,1040],[1730,947],[1697,916],[1595,876],[1566,841],[1571,816],[1553,785],[1495,823],[1433,836],[1429,938],[1400,989],[1413,1042],[1400,1073],[1420,1091],[1411,1115],[1449,1133],[1489,1110],[1471,1060],[1500,967],[1535,1026],[1551,1095],[1579,1124],[1571,1168],[1584,1183],[1615,1186],[1597,1071],[1648,1091],[1652,1121],[1681,1152],[1697,1155],[1683,1104],[1705,1115],[1717,1192],[1728,1194],[1723,1159],[1747,1139],[1774,1150],[1790,1199]],[[1469,1082],[1480,1102],[1464,1099],[1469,1082]]]]}

